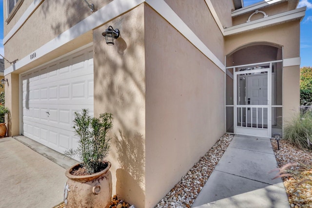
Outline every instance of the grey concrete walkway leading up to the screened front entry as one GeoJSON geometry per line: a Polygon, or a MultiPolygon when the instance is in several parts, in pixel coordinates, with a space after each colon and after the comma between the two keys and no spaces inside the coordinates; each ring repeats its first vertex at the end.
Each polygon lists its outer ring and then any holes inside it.
{"type": "Polygon", "coordinates": [[[193,208],[289,208],[269,138],[235,135],[193,208]]]}

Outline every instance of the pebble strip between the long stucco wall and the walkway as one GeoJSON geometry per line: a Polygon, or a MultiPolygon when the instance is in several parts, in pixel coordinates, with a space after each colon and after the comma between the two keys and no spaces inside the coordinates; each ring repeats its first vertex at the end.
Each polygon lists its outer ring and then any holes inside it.
{"type": "Polygon", "coordinates": [[[191,208],[199,191],[207,182],[215,165],[233,139],[232,134],[224,134],[215,145],[186,172],[181,181],[160,200],[155,208],[191,208]]]}

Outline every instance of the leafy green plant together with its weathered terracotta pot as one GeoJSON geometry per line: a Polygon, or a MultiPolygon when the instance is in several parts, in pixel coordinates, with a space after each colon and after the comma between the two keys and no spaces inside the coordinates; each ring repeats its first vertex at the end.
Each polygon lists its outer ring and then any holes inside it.
{"type": "Polygon", "coordinates": [[[112,198],[111,163],[105,160],[110,149],[108,132],[113,128],[111,113],[98,118],[89,116],[87,109],[75,112],[74,130],[79,137],[78,149],[65,155],[78,156],[80,163],[66,170],[64,189],[66,208],[108,208],[112,198]]]}

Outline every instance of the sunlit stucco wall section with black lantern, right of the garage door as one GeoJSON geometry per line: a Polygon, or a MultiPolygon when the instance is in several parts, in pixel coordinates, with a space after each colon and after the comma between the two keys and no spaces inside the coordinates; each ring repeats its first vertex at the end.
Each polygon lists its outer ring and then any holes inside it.
{"type": "Polygon", "coordinates": [[[94,112],[110,112],[113,193],[144,208],[145,198],[145,62],[144,5],[93,31],[94,112]],[[102,32],[111,25],[121,37],[106,45],[102,32]],[[120,132],[119,132],[120,130],[120,132]],[[121,134],[121,135],[120,135],[121,134]]]}

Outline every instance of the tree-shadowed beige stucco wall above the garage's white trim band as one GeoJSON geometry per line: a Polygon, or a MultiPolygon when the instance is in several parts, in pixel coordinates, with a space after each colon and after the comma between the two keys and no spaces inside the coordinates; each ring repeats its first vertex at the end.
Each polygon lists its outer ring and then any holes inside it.
{"type": "MultiPolygon", "coordinates": [[[[32,1],[24,0],[9,24],[4,24],[4,37],[32,1]]],[[[90,0],[89,2],[94,3],[96,9],[99,9],[110,1],[90,0]]],[[[5,1],[3,3],[5,4],[5,1]]],[[[6,5],[4,5],[4,8],[6,8],[6,5]]],[[[5,57],[8,60],[20,60],[92,14],[87,4],[82,0],[44,0],[17,33],[4,44],[5,57]]],[[[5,68],[9,66],[9,63],[5,63],[5,68]]]]}

